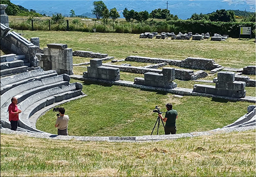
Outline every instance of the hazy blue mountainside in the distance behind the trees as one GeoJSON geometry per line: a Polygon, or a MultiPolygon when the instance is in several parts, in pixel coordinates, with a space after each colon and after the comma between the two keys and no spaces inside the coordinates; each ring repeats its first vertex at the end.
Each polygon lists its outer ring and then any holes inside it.
{"type": "MultiPolygon", "coordinates": [[[[96,0],[95,0],[96,1],[96,0]]],[[[70,10],[73,9],[76,15],[86,14],[87,17],[95,18],[91,14],[91,10],[94,8],[94,1],[16,1],[11,0],[12,3],[21,5],[27,9],[34,9],[38,13],[52,16],[52,14],[62,13],[65,16],[70,15],[70,10]],[[91,14],[91,15],[90,15],[91,14]]],[[[129,10],[134,9],[137,12],[147,10],[149,13],[152,10],[161,8],[165,9],[168,5],[168,10],[171,14],[178,15],[178,18],[188,19],[193,13],[212,13],[219,9],[231,9],[247,12],[255,12],[254,0],[213,0],[213,1],[104,1],[108,9],[116,8],[121,18],[122,11],[125,8],[129,10]],[[168,4],[167,4],[168,2],[168,4]]]]}

